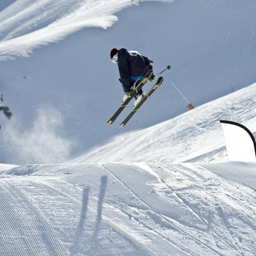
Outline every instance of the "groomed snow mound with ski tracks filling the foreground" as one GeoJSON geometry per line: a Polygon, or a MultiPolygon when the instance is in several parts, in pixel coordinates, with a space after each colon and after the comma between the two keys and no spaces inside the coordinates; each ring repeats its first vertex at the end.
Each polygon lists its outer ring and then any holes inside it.
{"type": "Polygon", "coordinates": [[[0,255],[256,254],[255,190],[223,178],[232,163],[211,166],[220,176],[198,164],[1,168],[0,255]]]}

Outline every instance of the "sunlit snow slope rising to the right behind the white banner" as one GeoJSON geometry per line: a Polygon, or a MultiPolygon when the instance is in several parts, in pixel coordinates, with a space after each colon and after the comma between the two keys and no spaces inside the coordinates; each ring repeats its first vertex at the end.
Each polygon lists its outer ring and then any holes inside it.
{"type": "Polygon", "coordinates": [[[256,84],[201,105],[166,122],[113,137],[72,163],[227,161],[219,120],[231,120],[256,131],[256,84]]]}

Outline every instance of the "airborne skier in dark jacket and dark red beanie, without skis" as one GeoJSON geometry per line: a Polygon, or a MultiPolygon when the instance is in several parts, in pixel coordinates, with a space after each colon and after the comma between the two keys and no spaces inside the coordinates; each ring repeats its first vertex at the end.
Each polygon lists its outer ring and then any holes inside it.
{"type": "MultiPolygon", "coordinates": [[[[113,48],[110,51],[110,58],[113,63],[117,63],[120,78],[119,81],[122,83],[123,101],[126,98],[131,97],[133,92],[133,85],[136,81],[141,81],[145,77],[149,69],[152,69],[151,62],[147,57],[140,55],[137,51],[128,51],[125,48],[116,49],[113,48]]],[[[151,76],[150,81],[154,80],[154,75],[151,76]]],[[[145,96],[145,92],[140,90],[135,96],[134,107],[139,101],[145,96]]]]}

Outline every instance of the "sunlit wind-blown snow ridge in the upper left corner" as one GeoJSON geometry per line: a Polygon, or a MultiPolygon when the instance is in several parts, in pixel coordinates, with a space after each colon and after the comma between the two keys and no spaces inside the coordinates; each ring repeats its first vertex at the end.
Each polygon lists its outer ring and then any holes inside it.
{"type": "MultiPolygon", "coordinates": [[[[172,2],[169,0],[166,2],[172,2]]],[[[27,57],[85,27],[108,28],[140,0],[16,0],[0,12],[0,60],[27,57]]]]}

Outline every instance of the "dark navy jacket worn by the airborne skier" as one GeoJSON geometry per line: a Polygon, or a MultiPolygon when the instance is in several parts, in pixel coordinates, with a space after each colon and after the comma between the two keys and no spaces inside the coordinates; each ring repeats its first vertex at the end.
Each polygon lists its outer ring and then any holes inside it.
{"type": "Polygon", "coordinates": [[[117,64],[120,73],[119,81],[125,92],[129,92],[134,82],[138,78],[143,80],[146,72],[152,69],[147,57],[140,55],[139,52],[127,51],[125,48],[119,49],[117,64]]]}

